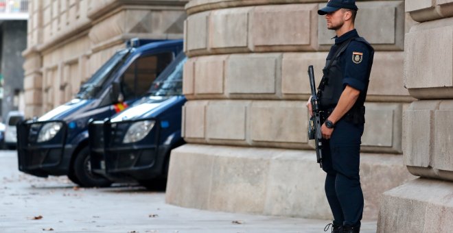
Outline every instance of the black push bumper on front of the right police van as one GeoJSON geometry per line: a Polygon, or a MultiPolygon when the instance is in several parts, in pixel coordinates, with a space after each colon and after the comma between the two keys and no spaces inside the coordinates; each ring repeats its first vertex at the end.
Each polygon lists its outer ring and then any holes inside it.
{"type": "Polygon", "coordinates": [[[170,150],[170,146],[159,145],[160,127],[159,119],[155,118],[93,122],[90,131],[92,171],[107,176],[126,175],[135,180],[158,177],[170,150]],[[154,122],[150,132],[137,142],[124,143],[129,128],[145,121],[154,122]]]}

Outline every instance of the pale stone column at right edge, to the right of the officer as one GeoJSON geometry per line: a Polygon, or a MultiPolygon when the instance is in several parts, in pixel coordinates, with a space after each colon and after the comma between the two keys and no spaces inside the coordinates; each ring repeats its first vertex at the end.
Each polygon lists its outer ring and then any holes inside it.
{"type": "Polygon", "coordinates": [[[417,180],[384,193],[378,232],[452,232],[453,1],[406,1],[404,165],[417,180]]]}

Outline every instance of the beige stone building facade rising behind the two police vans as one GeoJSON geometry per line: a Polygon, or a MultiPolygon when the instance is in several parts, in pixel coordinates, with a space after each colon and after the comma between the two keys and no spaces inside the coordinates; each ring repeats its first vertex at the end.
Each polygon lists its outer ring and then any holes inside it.
{"type": "Polygon", "coordinates": [[[185,0],[32,0],[25,116],[69,101],[130,38],[183,38],[185,0]]]}

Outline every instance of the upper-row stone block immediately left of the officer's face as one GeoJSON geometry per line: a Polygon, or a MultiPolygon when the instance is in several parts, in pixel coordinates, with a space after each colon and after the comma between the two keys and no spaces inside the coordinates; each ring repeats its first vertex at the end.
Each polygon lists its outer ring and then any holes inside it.
{"type": "Polygon", "coordinates": [[[266,5],[253,10],[251,40],[256,47],[316,42],[316,4],[266,5]]]}

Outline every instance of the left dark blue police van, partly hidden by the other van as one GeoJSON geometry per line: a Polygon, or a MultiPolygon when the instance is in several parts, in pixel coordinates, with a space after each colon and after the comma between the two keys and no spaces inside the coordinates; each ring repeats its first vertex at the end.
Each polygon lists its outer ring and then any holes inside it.
{"type": "Polygon", "coordinates": [[[17,126],[19,170],[39,177],[67,175],[80,186],[109,186],[91,172],[88,123],[123,110],[148,92],[183,49],[183,40],[133,45],[113,55],[84,83],[75,99],[17,126]]]}

